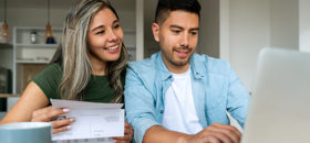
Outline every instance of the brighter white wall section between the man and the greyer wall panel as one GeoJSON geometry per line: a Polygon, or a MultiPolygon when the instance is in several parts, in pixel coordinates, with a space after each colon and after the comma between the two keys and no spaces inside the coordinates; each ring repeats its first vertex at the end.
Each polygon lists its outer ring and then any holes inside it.
{"type": "Polygon", "coordinates": [[[251,91],[259,50],[270,45],[270,0],[229,1],[230,64],[251,91]]]}

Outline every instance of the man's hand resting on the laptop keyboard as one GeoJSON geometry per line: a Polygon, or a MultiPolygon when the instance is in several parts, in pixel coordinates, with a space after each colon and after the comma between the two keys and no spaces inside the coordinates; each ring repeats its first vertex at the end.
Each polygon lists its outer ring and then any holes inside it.
{"type": "Polygon", "coordinates": [[[241,133],[231,125],[214,123],[197,134],[182,139],[182,143],[239,143],[241,133]]]}

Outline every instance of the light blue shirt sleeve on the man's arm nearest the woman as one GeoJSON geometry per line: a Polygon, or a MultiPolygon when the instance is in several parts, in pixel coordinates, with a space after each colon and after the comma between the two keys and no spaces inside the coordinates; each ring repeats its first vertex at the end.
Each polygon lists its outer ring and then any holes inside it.
{"type": "Polygon", "coordinates": [[[127,68],[125,82],[126,119],[134,128],[134,140],[142,143],[145,132],[158,124],[155,119],[155,100],[131,67],[127,68]]]}

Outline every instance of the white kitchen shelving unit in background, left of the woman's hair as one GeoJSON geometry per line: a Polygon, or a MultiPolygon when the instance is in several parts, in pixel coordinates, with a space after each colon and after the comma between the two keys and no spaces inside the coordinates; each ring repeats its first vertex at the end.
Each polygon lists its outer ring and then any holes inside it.
{"type": "Polygon", "coordinates": [[[51,61],[61,42],[62,28],[53,28],[55,44],[45,44],[45,28],[13,28],[13,94],[22,94],[29,81],[51,61]],[[31,42],[31,33],[35,42],[31,42]]]}

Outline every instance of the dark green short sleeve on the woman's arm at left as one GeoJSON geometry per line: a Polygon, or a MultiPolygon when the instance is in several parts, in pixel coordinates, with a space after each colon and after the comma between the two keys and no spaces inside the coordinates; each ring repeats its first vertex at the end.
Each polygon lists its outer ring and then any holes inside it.
{"type": "Polygon", "coordinates": [[[62,78],[62,68],[59,64],[51,64],[39,73],[32,81],[41,88],[48,99],[60,99],[59,85],[62,78]]]}

